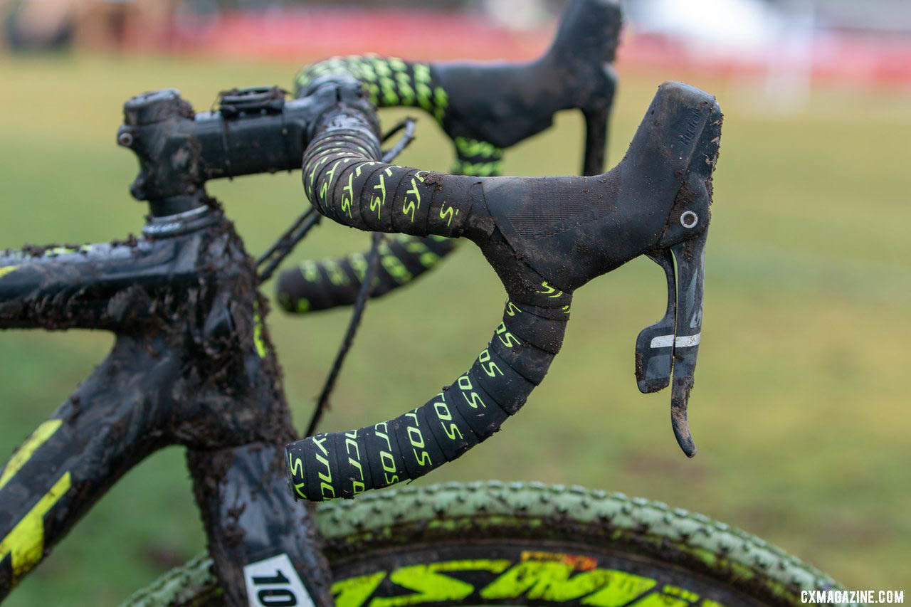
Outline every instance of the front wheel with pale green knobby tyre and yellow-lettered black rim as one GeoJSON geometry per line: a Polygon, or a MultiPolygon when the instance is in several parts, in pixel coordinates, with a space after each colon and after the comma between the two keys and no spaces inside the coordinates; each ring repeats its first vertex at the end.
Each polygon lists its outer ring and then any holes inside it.
{"type": "MultiPolygon", "coordinates": [[[[841,587],[741,530],[660,502],[541,483],[448,483],[322,504],[339,607],[801,604],[841,587]]],[[[126,604],[220,604],[202,555],[126,604]]]]}

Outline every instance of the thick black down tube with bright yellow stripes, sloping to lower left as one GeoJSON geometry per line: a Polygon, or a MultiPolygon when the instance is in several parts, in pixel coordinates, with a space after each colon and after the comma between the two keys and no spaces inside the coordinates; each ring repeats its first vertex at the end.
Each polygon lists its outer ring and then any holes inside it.
{"type": "Polygon", "coordinates": [[[152,428],[179,360],[118,337],[107,359],[0,472],[0,600],[89,508],[162,446],[152,428]]]}

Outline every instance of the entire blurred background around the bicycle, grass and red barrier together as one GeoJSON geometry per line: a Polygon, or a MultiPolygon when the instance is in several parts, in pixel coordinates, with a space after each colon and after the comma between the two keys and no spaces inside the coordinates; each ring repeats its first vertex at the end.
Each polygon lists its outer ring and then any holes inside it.
{"type": "MultiPolygon", "coordinates": [[[[418,482],[620,490],[752,531],[849,588],[908,590],[911,4],[623,4],[609,164],[665,79],[713,92],[725,112],[691,398],[699,455],[677,448],[670,396],[635,387],[636,335],[665,304],[660,269],[640,259],[577,293],[563,351],[521,415],[418,482]]],[[[201,110],[225,88],[290,87],[299,67],[334,54],[527,59],[548,46],[564,5],[0,0],[0,243],[138,233],[146,210],[127,190],[136,162],[115,143],[122,103],[138,92],[178,87],[201,110]]],[[[507,174],[578,172],[582,130],[577,115],[559,115],[507,150],[507,174]]],[[[450,168],[434,120],[422,115],[417,132],[399,161],[450,168]]],[[[296,173],[210,192],[254,255],[306,204],[296,173]]],[[[366,235],[324,224],[294,259],[366,246],[366,235]]],[[[476,356],[502,301],[467,246],[377,300],[323,429],[424,402],[476,356]],[[428,328],[433,342],[416,338],[428,328]]],[[[344,310],[269,317],[298,427],[347,320],[344,310]]],[[[0,334],[0,452],[53,413],[110,344],[90,332],[0,334]]],[[[202,548],[183,456],[169,448],[119,482],[6,604],[117,603],[202,548]]]]}

